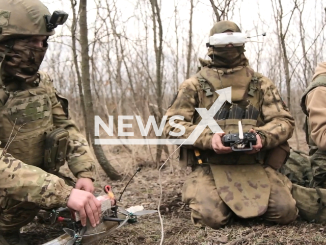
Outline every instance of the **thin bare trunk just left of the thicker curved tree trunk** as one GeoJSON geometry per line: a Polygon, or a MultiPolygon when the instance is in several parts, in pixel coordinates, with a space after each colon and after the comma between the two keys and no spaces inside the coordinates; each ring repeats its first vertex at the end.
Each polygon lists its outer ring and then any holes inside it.
{"type": "Polygon", "coordinates": [[[86,139],[90,143],[90,136],[89,136],[89,127],[87,124],[87,115],[85,110],[85,100],[84,100],[84,93],[83,93],[83,85],[82,85],[82,77],[80,77],[79,66],[77,61],[77,52],[76,52],[76,27],[77,27],[77,18],[76,18],[76,0],[71,1],[71,8],[72,8],[72,26],[71,26],[71,39],[72,39],[72,52],[73,52],[73,62],[75,64],[76,74],[77,74],[77,81],[78,81],[78,89],[79,89],[79,98],[80,98],[80,106],[82,107],[84,123],[85,123],[85,134],[86,139]]]}

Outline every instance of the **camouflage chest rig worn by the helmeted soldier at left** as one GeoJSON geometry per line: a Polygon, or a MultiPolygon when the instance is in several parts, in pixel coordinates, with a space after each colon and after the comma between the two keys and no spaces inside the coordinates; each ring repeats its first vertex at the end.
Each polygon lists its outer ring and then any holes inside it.
{"type": "Polygon", "coordinates": [[[40,77],[37,81],[22,90],[0,84],[0,147],[44,169],[47,135],[54,127],[48,91],[40,77]]]}

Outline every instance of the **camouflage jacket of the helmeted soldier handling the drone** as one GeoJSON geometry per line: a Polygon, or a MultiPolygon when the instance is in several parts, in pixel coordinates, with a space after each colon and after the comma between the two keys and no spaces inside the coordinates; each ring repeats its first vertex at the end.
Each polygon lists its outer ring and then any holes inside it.
{"type": "MultiPolygon", "coordinates": [[[[63,179],[42,170],[41,165],[30,164],[21,160],[24,158],[24,154],[30,154],[33,156],[33,151],[35,151],[37,154],[43,153],[43,150],[38,150],[39,147],[37,144],[29,143],[30,141],[32,142],[35,140],[35,138],[39,137],[39,135],[42,135],[43,131],[35,134],[36,136],[31,138],[29,138],[29,135],[23,135],[23,133],[28,134],[30,131],[33,131],[34,128],[36,128],[35,131],[41,130],[42,127],[33,127],[33,122],[37,121],[41,117],[40,113],[42,113],[42,116],[45,115],[44,117],[51,118],[52,122],[50,123],[53,124],[51,127],[61,127],[69,132],[66,160],[69,169],[76,178],[90,178],[94,181],[96,170],[95,161],[87,140],[83,134],[80,133],[75,122],[69,116],[68,101],[55,89],[53,86],[53,81],[45,72],[40,71],[39,74],[40,79],[36,87],[41,88],[41,91],[47,94],[47,96],[44,96],[45,99],[43,98],[46,103],[42,104],[42,100],[37,100],[33,102],[33,104],[29,101],[31,97],[23,98],[23,96],[21,96],[21,100],[13,101],[12,98],[14,95],[11,94],[11,97],[8,99],[8,103],[6,104],[3,102],[4,97],[0,96],[0,100],[3,104],[3,106],[0,108],[0,113],[5,115],[3,118],[10,118],[10,116],[14,114],[8,114],[8,111],[16,112],[16,115],[14,115],[14,117],[18,117],[17,124],[14,127],[16,131],[19,124],[21,124],[21,121],[30,121],[31,125],[22,127],[19,130],[17,137],[15,137],[9,145],[9,149],[5,154],[5,157],[0,160],[0,169],[3,176],[0,181],[0,193],[5,197],[11,197],[20,201],[35,202],[44,206],[65,206],[72,187],[65,185],[65,181],[63,179]],[[29,107],[22,108],[24,107],[24,104],[21,102],[26,101],[29,102],[29,107]],[[48,107],[49,109],[47,109],[48,107]],[[34,114],[31,115],[32,113],[34,114]],[[26,115],[30,115],[30,117],[26,115]],[[32,119],[30,120],[30,118],[32,119]],[[19,119],[21,119],[21,121],[19,121],[19,119]],[[19,136],[19,134],[22,135],[19,136]],[[24,142],[26,142],[26,144],[24,142]],[[19,146],[19,144],[22,146],[26,145],[26,149],[18,152],[19,154],[11,154],[11,151],[15,151],[15,145],[19,146]],[[29,146],[34,147],[32,150],[30,150],[30,152],[28,149],[29,146]]],[[[29,91],[31,94],[36,95],[34,97],[37,98],[38,95],[35,94],[35,91],[40,90],[34,91],[33,88],[35,85],[32,86],[24,84],[24,86],[25,87],[17,87],[16,84],[9,84],[6,85],[6,88],[8,91],[10,91],[10,93],[17,90],[18,93],[16,94],[18,95],[19,91],[29,91]]],[[[10,131],[13,128],[11,125],[13,118],[10,119],[11,123],[8,123],[9,119],[6,119],[7,121],[5,121],[3,118],[0,119],[2,148],[4,148],[6,144],[6,142],[3,142],[3,139],[8,141],[7,133],[10,134],[10,131]]],[[[49,119],[47,119],[47,121],[49,121],[49,119]]],[[[41,123],[44,123],[44,121],[41,121],[41,123]]],[[[24,147],[18,148],[23,149],[24,147]]]]}

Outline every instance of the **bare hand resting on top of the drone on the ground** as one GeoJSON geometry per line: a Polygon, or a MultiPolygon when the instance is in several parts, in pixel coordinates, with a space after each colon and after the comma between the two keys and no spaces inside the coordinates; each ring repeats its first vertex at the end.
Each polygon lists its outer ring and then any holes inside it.
{"type": "Polygon", "coordinates": [[[80,221],[86,226],[88,217],[92,226],[96,227],[100,223],[101,202],[90,192],[72,189],[68,199],[67,207],[79,212],[80,221]]]}

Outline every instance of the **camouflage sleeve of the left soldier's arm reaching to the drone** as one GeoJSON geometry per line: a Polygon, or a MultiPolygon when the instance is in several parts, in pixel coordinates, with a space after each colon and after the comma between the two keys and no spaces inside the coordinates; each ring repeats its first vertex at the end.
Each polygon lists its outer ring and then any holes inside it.
{"type": "Polygon", "coordinates": [[[0,197],[33,202],[45,208],[67,206],[72,186],[3,152],[0,150],[0,197]]]}

